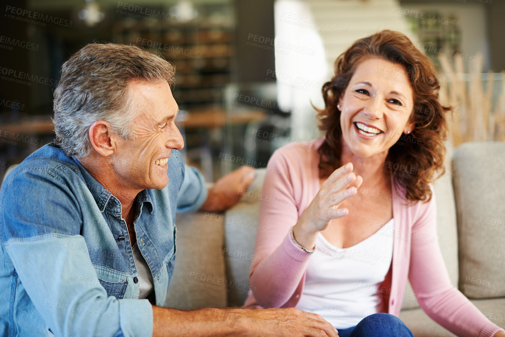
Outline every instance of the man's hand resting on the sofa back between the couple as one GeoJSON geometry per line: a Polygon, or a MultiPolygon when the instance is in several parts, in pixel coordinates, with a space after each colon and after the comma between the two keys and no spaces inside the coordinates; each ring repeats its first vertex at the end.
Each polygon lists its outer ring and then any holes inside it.
{"type": "Polygon", "coordinates": [[[255,176],[255,168],[244,165],[221,177],[209,190],[207,199],[200,209],[220,212],[230,208],[249,187],[255,176]]]}

